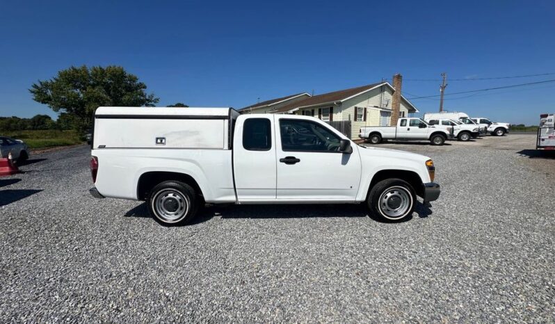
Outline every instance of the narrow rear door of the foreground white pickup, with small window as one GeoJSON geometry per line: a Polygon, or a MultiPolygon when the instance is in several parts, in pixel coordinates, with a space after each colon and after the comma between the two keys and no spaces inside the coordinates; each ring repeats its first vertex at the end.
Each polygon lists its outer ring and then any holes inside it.
{"type": "Polygon", "coordinates": [[[233,168],[239,202],[275,200],[274,116],[238,118],[233,168]]]}

